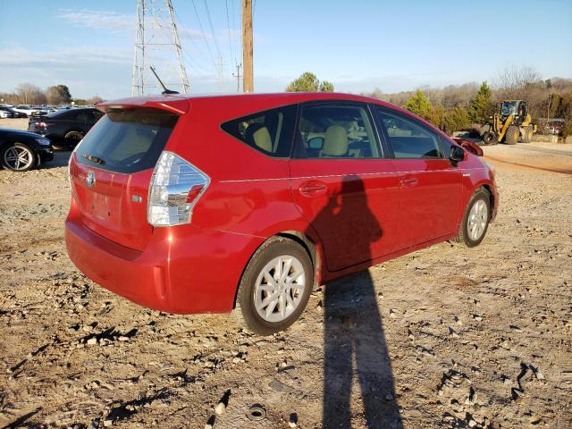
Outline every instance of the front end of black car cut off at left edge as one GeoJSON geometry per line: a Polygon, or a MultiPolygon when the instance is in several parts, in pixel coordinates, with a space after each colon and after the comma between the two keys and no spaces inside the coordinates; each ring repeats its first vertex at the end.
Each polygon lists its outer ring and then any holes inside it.
{"type": "Polygon", "coordinates": [[[39,134],[0,129],[0,164],[13,172],[27,172],[54,159],[52,142],[39,134]]]}

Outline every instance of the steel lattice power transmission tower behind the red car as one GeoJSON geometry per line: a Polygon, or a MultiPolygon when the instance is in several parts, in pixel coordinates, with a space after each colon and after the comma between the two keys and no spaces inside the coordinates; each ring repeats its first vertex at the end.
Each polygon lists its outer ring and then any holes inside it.
{"type": "Polygon", "coordinates": [[[133,55],[131,95],[161,92],[155,79],[148,79],[155,66],[167,88],[190,92],[182,59],[181,41],[171,0],[137,0],[137,23],[133,55]]]}

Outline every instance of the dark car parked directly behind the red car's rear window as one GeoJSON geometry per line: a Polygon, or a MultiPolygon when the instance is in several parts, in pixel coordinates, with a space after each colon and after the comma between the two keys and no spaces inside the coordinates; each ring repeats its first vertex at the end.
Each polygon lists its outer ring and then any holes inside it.
{"type": "Polygon", "coordinates": [[[103,115],[93,108],[62,110],[29,118],[28,130],[45,136],[55,144],[75,147],[103,115]]]}

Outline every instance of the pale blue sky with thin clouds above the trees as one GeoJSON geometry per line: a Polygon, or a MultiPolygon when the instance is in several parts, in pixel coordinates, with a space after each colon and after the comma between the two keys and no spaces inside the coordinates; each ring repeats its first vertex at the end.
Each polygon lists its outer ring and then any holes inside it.
{"type": "MultiPolygon", "coordinates": [[[[30,82],[66,84],[74,97],[130,96],[135,4],[0,0],[0,92],[30,82]]],[[[172,4],[191,90],[234,91],[240,0],[172,4]]],[[[494,83],[513,66],[572,78],[570,0],[256,0],[254,33],[257,91],[282,91],[303,71],[355,93],[494,83]]],[[[172,62],[154,61],[169,80],[172,62]]]]}

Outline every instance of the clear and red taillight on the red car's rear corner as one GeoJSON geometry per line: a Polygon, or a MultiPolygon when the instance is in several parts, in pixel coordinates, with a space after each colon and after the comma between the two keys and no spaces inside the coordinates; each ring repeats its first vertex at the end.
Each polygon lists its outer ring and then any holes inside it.
{"type": "Polygon", "coordinates": [[[153,171],[147,201],[147,222],[153,226],[189,223],[193,206],[210,179],[180,156],[164,151],[153,171]]]}

